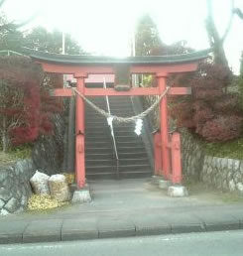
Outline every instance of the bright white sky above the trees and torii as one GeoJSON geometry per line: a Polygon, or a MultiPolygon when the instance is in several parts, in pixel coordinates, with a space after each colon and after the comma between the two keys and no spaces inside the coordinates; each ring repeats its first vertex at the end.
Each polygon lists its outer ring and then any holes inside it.
{"type": "MultiPolygon", "coordinates": [[[[215,21],[222,33],[229,18],[229,0],[214,0],[215,21]]],[[[243,0],[235,0],[243,10],[243,0]]],[[[128,56],[137,19],[151,14],[163,42],[186,40],[200,50],[208,47],[204,28],[205,0],[7,0],[9,20],[23,20],[40,11],[33,25],[68,32],[88,52],[128,56]]],[[[238,71],[243,50],[243,21],[234,19],[225,42],[229,64],[238,71]]]]}

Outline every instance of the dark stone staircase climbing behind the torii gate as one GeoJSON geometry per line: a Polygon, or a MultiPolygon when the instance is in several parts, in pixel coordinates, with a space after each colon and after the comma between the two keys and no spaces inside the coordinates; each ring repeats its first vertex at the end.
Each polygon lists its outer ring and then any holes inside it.
{"type": "MultiPolygon", "coordinates": [[[[106,110],[105,97],[90,97],[106,110]]],[[[134,115],[129,96],[109,97],[111,114],[134,115]]],[[[152,169],[142,137],[134,133],[134,124],[114,124],[119,167],[113,151],[110,128],[105,117],[85,106],[85,166],[87,180],[151,177],[152,169]]]]}

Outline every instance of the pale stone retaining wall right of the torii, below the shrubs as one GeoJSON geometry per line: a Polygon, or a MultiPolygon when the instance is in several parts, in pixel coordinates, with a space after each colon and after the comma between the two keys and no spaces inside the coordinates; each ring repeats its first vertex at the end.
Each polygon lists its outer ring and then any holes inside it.
{"type": "Polygon", "coordinates": [[[187,132],[182,132],[182,172],[223,192],[243,192],[243,160],[206,156],[187,132]]]}

